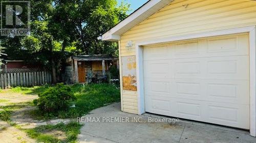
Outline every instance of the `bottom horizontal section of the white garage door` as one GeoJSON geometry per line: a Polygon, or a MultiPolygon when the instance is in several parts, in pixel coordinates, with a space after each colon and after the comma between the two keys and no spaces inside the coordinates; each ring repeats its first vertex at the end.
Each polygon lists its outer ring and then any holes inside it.
{"type": "Polygon", "coordinates": [[[148,97],[151,100],[145,102],[146,112],[249,129],[249,119],[245,118],[249,116],[249,105],[148,97]]]}

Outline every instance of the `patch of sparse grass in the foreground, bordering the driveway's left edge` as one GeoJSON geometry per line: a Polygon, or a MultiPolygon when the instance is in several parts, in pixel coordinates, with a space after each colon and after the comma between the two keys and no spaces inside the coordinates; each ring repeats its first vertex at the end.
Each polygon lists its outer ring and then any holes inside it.
{"type": "Polygon", "coordinates": [[[35,138],[38,142],[76,142],[81,126],[82,125],[77,122],[72,122],[67,125],[59,123],[57,125],[46,125],[39,126],[34,129],[25,129],[25,131],[31,138],[35,138]],[[65,132],[67,138],[60,140],[57,138],[57,136],[45,134],[50,131],[65,132]]]}

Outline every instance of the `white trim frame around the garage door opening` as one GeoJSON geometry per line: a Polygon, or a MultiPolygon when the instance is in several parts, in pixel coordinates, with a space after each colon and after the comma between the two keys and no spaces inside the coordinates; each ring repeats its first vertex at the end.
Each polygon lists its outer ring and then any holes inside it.
{"type": "Polygon", "coordinates": [[[255,26],[234,28],[230,30],[201,33],[195,35],[186,35],[179,37],[169,37],[165,39],[152,40],[137,43],[136,47],[136,63],[137,63],[137,90],[138,90],[138,114],[145,113],[145,97],[144,97],[144,75],[143,75],[143,46],[151,44],[160,44],[174,42],[179,40],[189,40],[195,38],[206,38],[212,36],[223,36],[230,34],[249,33],[249,63],[250,63],[250,135],[256,136],[256,30],[255,26]]]}

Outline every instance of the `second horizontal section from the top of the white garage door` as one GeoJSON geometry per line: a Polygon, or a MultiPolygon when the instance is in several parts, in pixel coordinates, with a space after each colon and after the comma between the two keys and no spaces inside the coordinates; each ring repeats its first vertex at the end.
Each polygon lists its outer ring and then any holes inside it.
{"type": "Polygon", "coordinates": [[[248,60],[242,55],[144,61],[144,77],[249,80],[248,60]]]}

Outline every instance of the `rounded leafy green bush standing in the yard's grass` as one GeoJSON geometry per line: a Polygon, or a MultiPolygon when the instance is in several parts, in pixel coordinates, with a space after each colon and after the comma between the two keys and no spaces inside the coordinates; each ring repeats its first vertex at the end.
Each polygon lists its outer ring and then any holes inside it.
{"type": "Polygon", "coordinates": [[[63,83],[58,83],[55,87],[47,89],[38,96],[39,98],[35,99],[33,103],[41,111],[48,113],[67,110],[76,99],[71,88],[63,83]]]}

